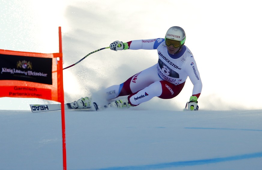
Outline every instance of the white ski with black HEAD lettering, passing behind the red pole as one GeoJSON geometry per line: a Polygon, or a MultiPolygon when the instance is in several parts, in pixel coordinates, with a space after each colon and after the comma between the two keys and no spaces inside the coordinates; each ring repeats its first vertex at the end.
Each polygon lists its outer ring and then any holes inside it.
{"type": "MultiPolygon", "coordinates": [[[[48,112],[48,111],[55,111],[61,110],[61,104],[30,104],[31,111],[35,112],[48,112]]],[[[65,103],[65,110],[80,110],[74,109],[70,106],[70,103],[65,103]]],[[[84,111],[96,111],[92,108],[81,109],[84,111]]]]}

